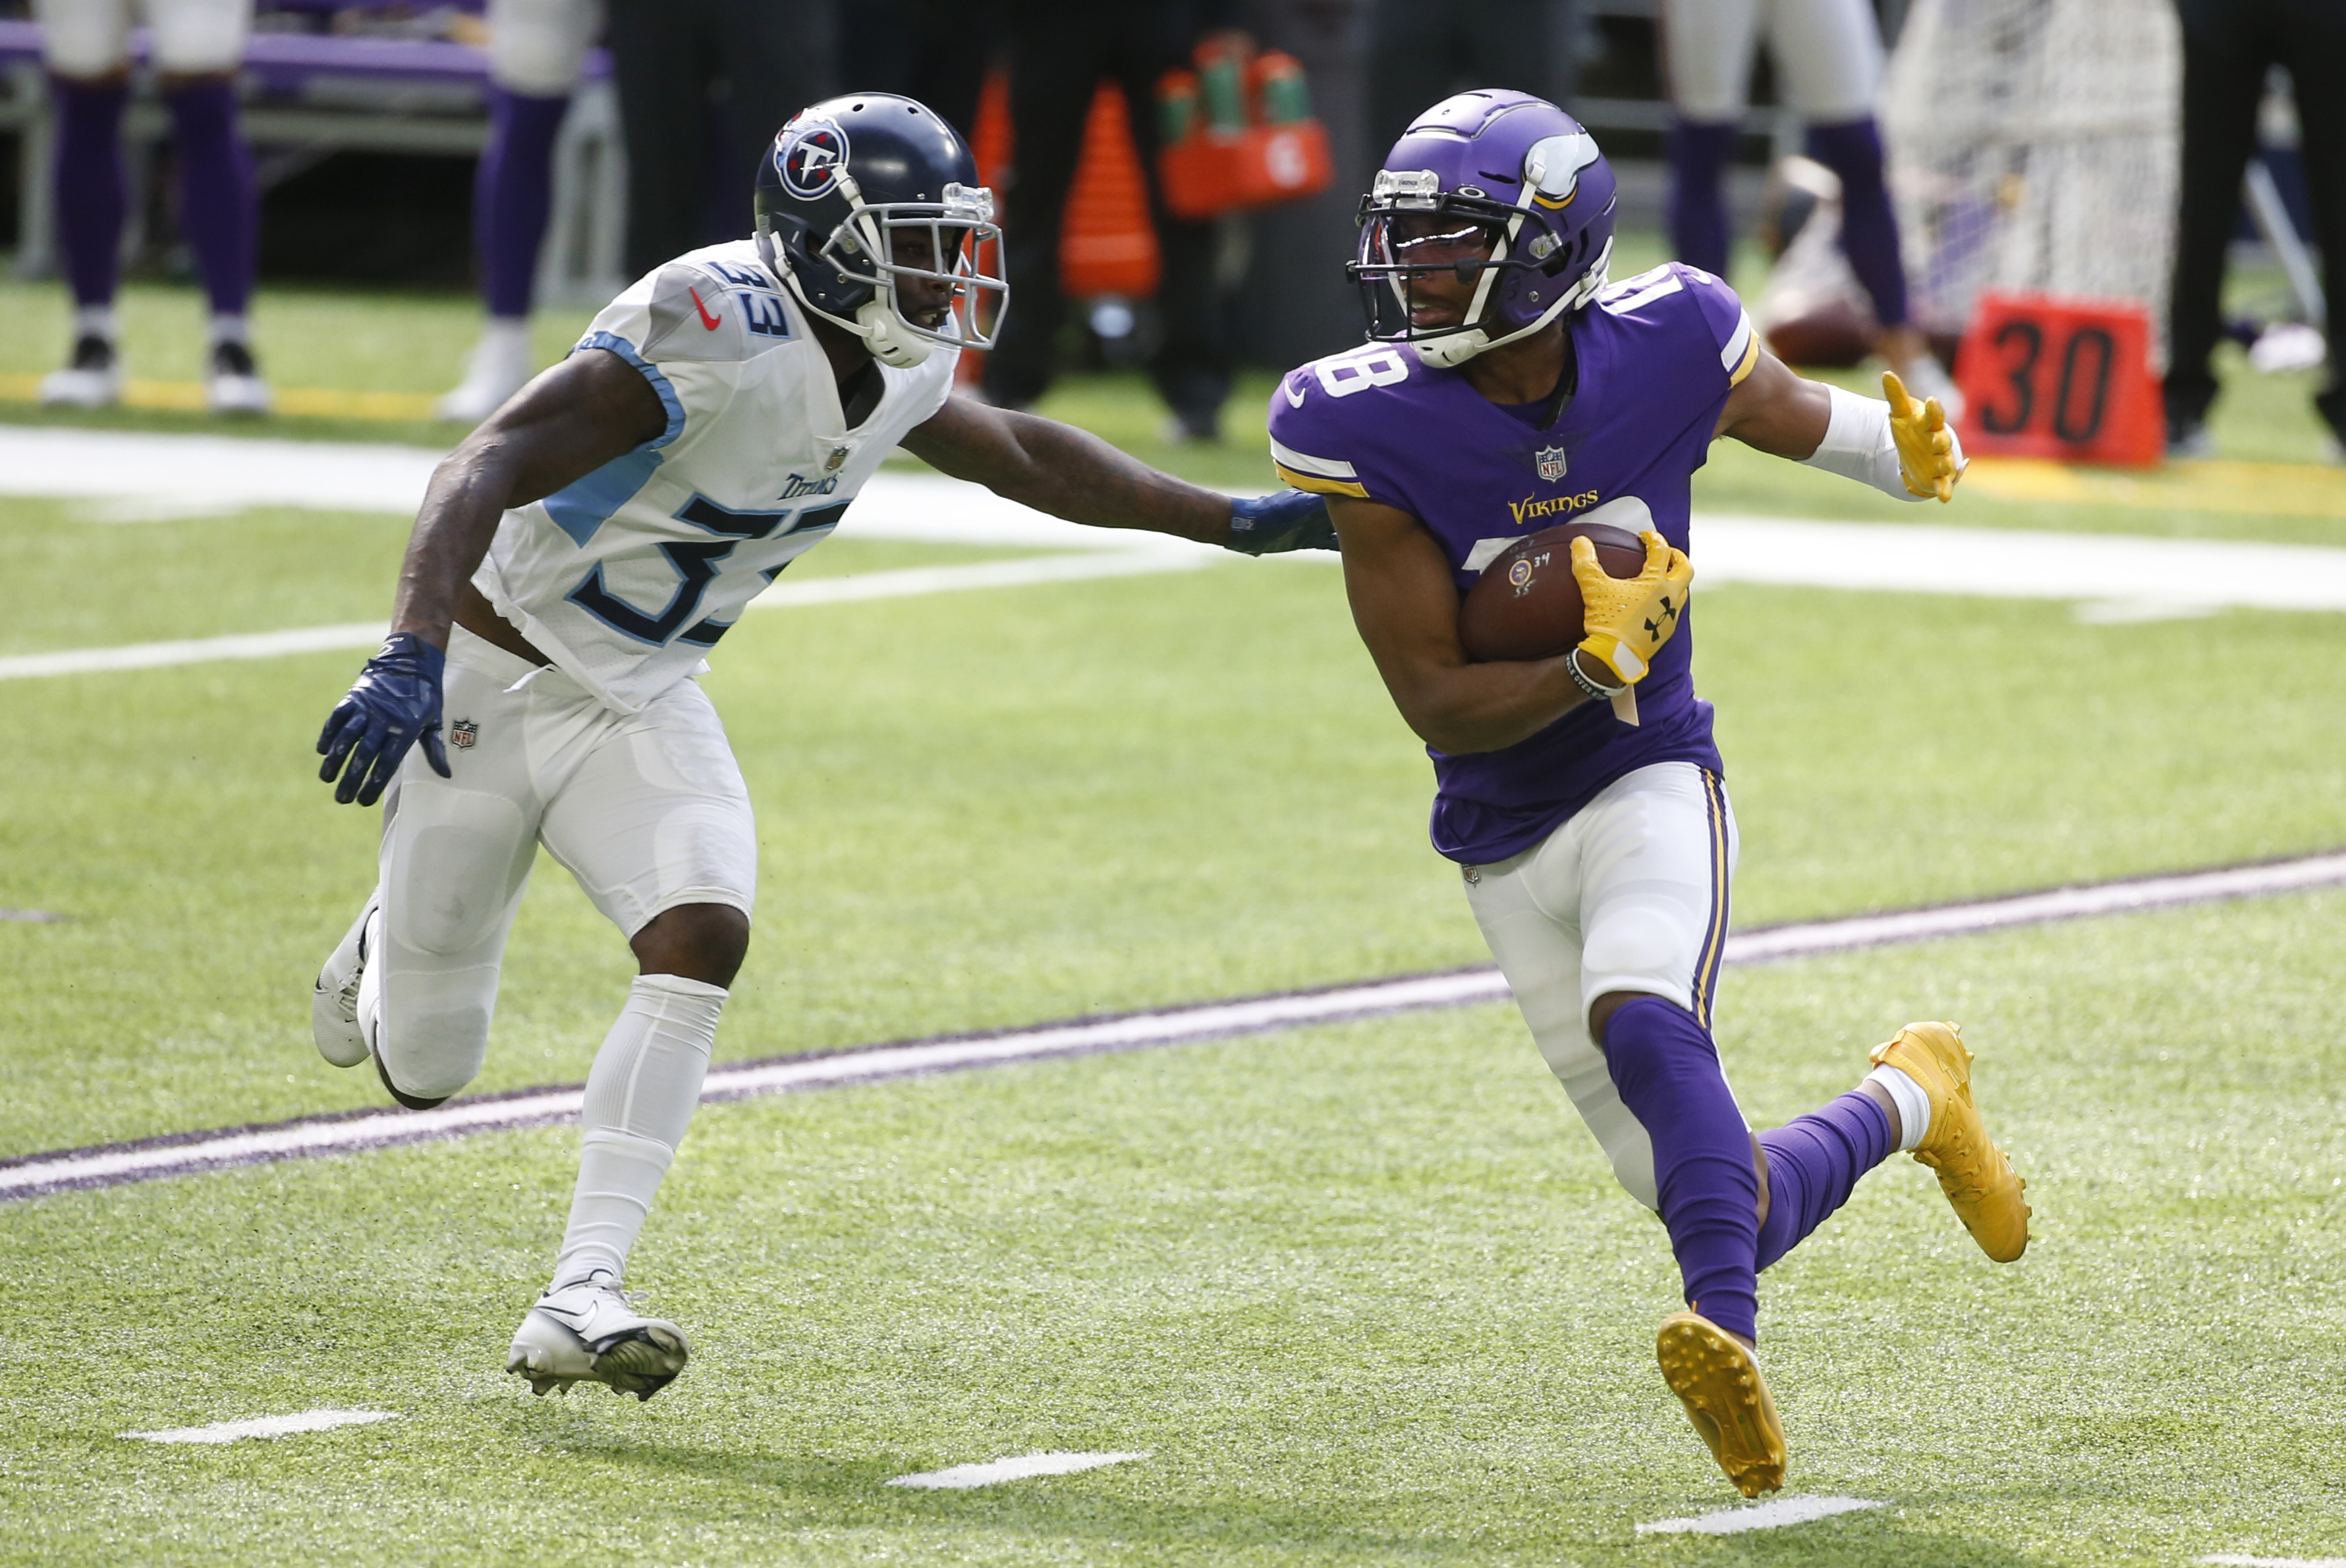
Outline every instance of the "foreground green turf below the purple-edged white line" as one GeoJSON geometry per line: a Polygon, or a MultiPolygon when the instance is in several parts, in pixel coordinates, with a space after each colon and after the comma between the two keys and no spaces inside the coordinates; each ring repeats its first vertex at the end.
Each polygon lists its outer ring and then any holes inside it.
{"type": "Polygon", "coordinates": [[[2184,1563],[2346,1549],[2346,898],[1729,975],[1771,1125],[1952,1013],[2036,1202],[1987,1263],[1903,1158],[1762,1280],[1790,1493],[1668,1399],[1659,1226],[1508,1008],[701,1113],[636,1252],[697,1336],[638,1406],[502,1345],[575,1134],[7,1212],[0,1561],[2184,1563]],[[399,1420],[148,1446],[303,1409],[399,1420]],[[906,1472],[1147,1451],[913,1493],[906,1472]]]}

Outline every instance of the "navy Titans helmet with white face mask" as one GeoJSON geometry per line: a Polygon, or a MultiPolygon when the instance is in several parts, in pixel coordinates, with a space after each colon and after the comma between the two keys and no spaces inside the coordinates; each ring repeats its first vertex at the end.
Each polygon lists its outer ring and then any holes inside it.
{"type": "Polygon", "coordinates": [[[931,342],[988,349],[999,335],[1011,288],[985,265],[1002,255],[995,192],[978,185],[969,143],[927,105],[884,91],[809,103],[758,164],[755,206],[765,265],[873,359],[917,366],[931,342]],[[927,237],[927,265],[899,260],[906,234],[927,237]],[[941,323],[903,312],[903,279],[950,286],[941,323]]]}

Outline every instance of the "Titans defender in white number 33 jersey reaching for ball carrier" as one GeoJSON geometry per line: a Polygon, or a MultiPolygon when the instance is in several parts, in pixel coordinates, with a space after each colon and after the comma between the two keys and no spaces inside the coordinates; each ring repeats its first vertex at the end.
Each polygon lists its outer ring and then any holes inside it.
{"type": "Polygon", "coordinates": [[[952,396],[1006,286],[962,138],[891,94],[793,117],[758,232],[636,281],[434,473],[392,635],[326,720],[335,799],[385,799],[380,879],[317,980],[319,1052],[427,1109],[481,1069],[537,846],[636,952],[586,1078],[554,1277],[507,1371],[652,1397],[685,1331],[619,1284],[748,949],[758,837],[692,680],[741,607],[840,523],[880,459],[1060,518],[1246,553],[1335,546],[1321,497],[1232,502],[1084,431],[952,396]],[[446,734],[441,722],[446,715],[446,734]]]}

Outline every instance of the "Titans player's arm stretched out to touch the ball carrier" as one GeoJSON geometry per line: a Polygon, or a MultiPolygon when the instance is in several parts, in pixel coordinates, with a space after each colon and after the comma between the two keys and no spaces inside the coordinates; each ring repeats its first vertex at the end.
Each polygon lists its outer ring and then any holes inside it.
{"type": "Polygon", "coordinates": [[[945,398],[903,448],[931,469],[1070,523],[1140,527],[1248,555],[1335,548],[1328,506],[1316,495],[1281,490],[1232,502],[1126,457],[1091,431],[976,398],[945,398]]]}

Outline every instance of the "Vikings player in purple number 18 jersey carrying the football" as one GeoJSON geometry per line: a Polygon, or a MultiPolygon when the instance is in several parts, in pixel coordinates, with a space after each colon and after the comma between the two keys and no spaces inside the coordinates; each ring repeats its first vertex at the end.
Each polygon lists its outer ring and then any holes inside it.
{"type": "Polygon", "coordinates": [[[1361,206],[1365,347],[1272,394],[1281,476],[1328,497],[1361,640],[1433,757],[1433,846],[1548,1066],[1633,1198],[1661,1214],[1687,1310],[1666,1380],[1745,1495],[1783,1484],[1755,1357],[1757,1273],[1893,1148],[1938,1170],[1999,1261],[2027,1247],[2011,1160],[1952,1024],[1910,1024],[1858,1088],[1752,1137],[1710,1034],[1736,823],[1694,696],[1689,488],[1713,438],[1898,497],[1950,499],[1964,457],[1935,401],[1792,375],[1734,291],[1666,265],[1607,284],[1614,176],[1553,103],[1466,91],[1412,124],[1361,206]],[[1574,541],[1586,638],[1469,663],[1459,598],[1565,520],[1638,530],[1612,579],[1574,541]]]}

